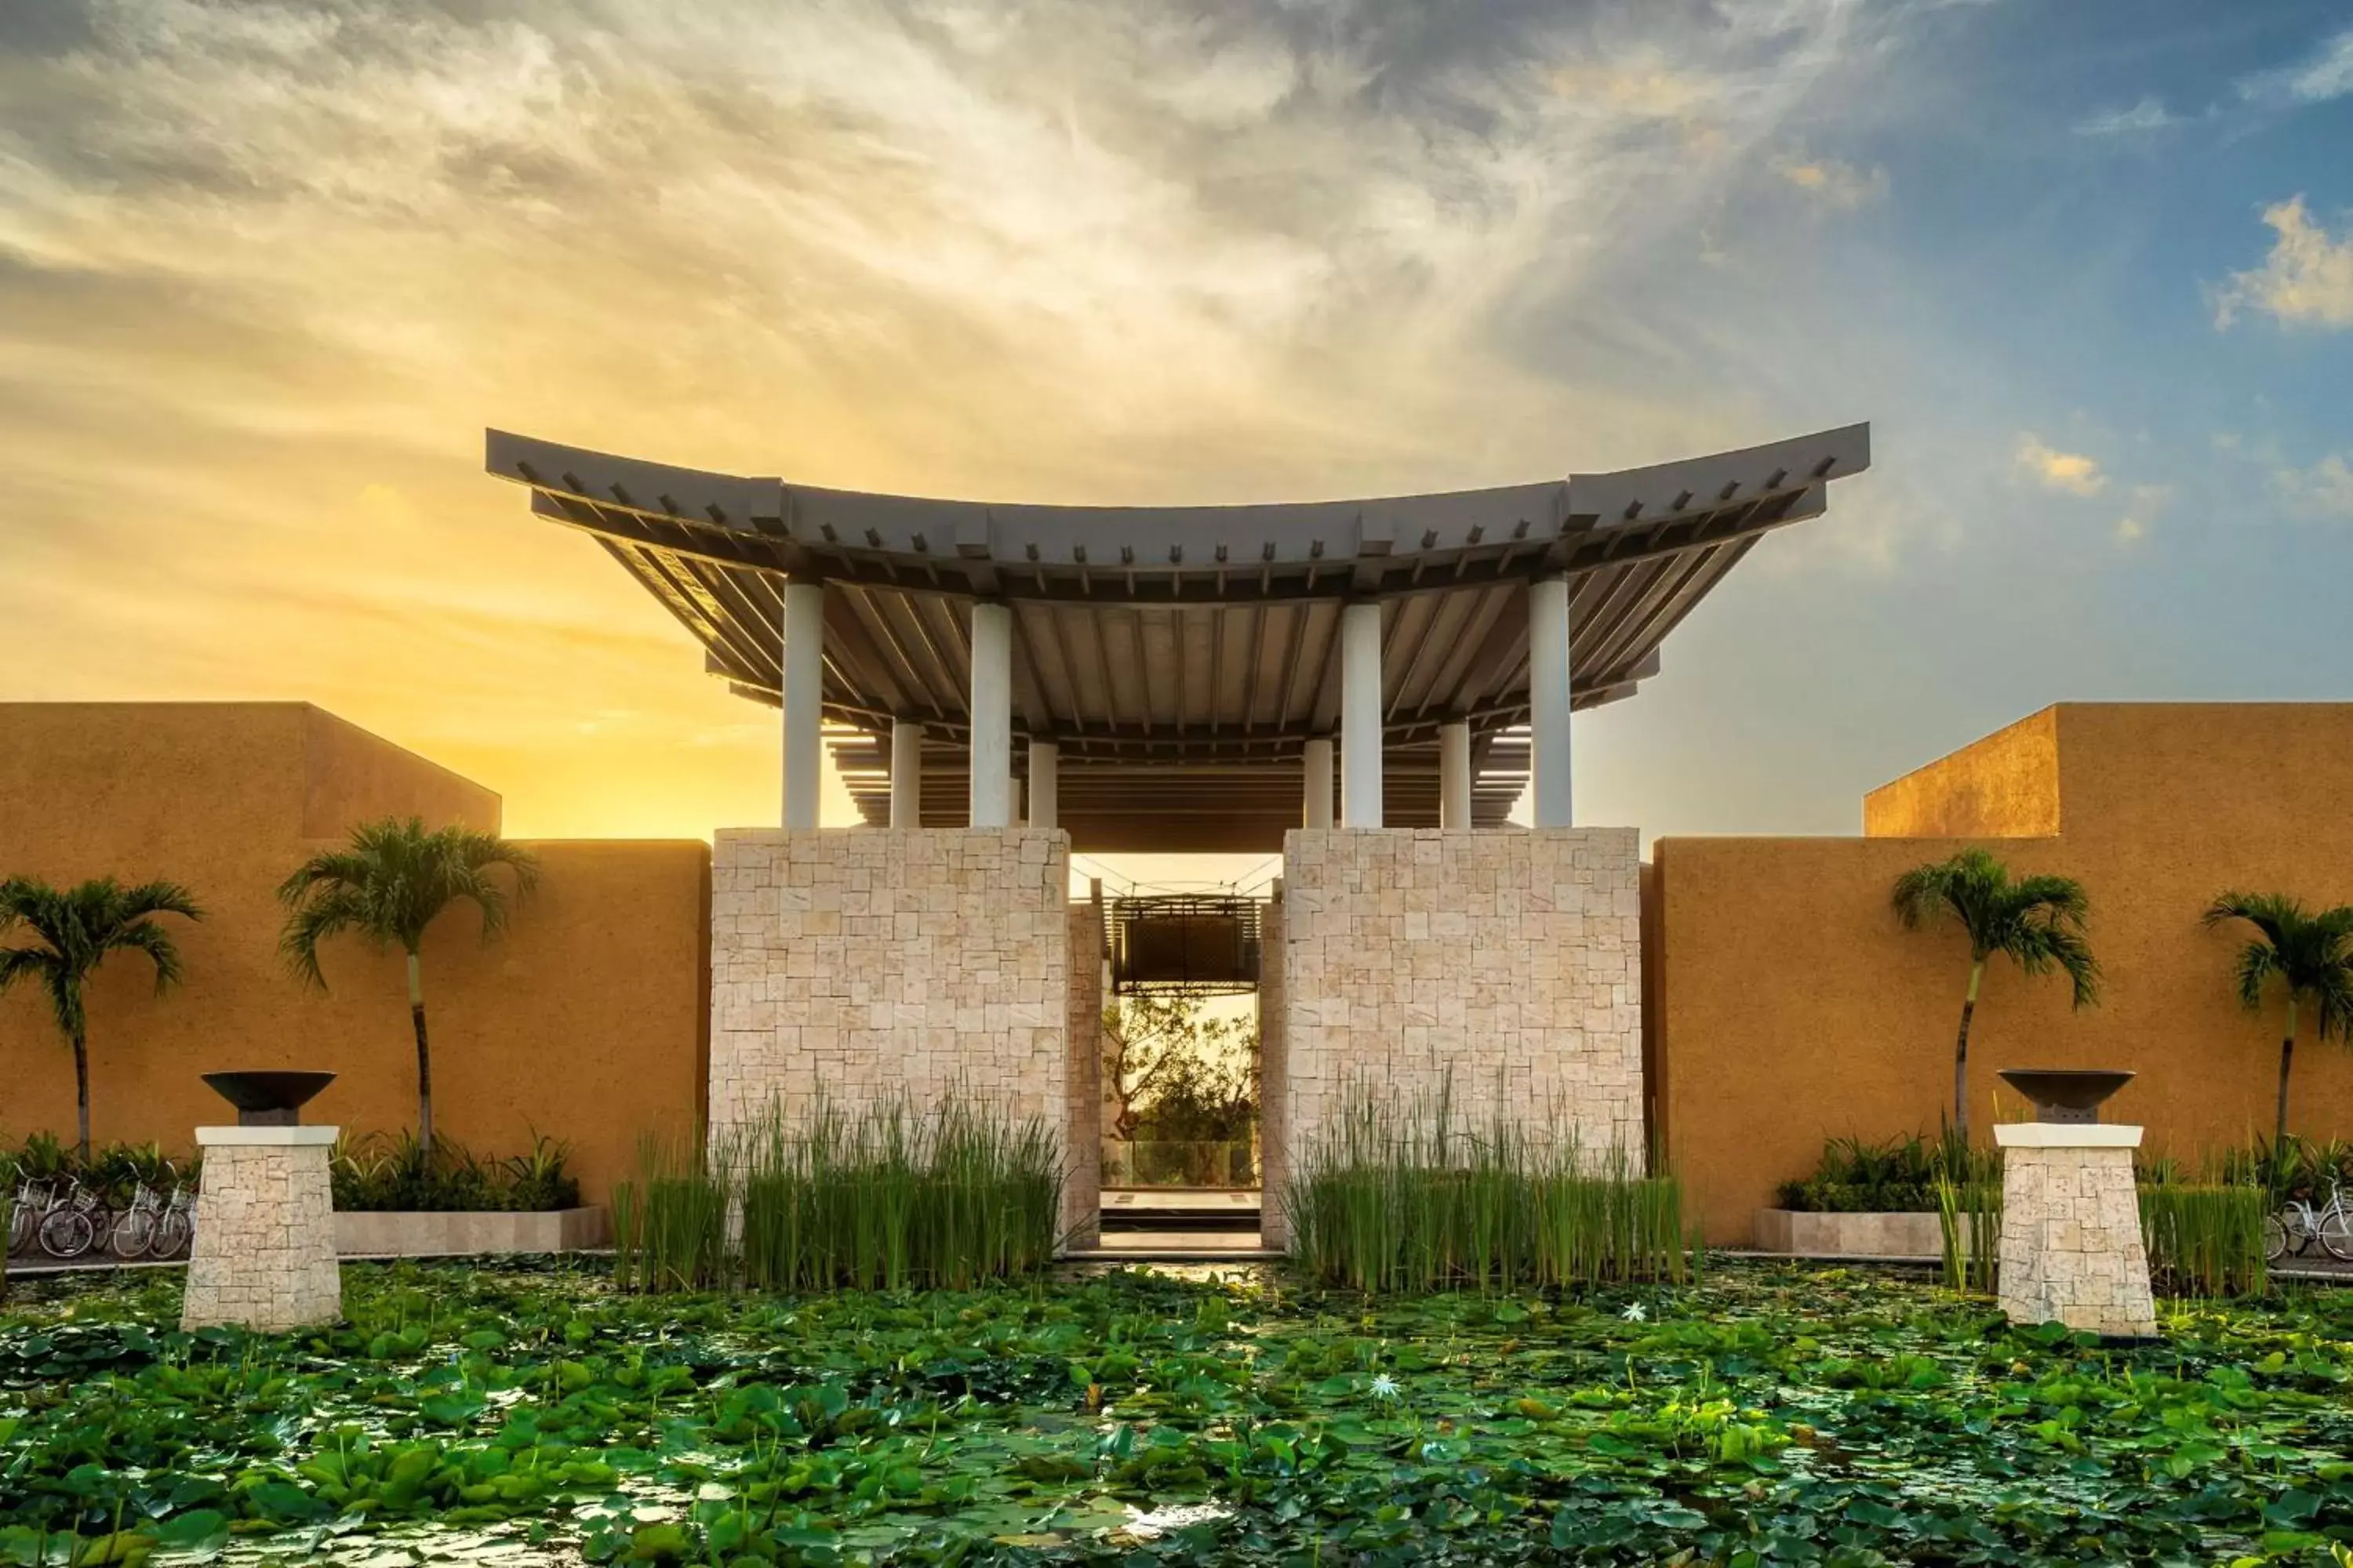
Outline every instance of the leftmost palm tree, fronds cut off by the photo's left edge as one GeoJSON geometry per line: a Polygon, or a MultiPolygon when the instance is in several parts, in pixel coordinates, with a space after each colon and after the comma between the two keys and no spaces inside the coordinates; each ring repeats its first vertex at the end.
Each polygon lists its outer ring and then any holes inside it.
{"type": "Polygon", "coordinates": [[[31,926],[38,947],[0,947],[0,992],[33,980],[49,994],[49,1013],[73,1044],[73,1093],[82,1166],[89,1166],[89,1009],[82,985],[108,952],[136,950],[155,964],[155,994],[179,980],[179,950],[155,924],[158,914],[205,919],[195,898],[176,882],[144,882],[134,889],[113,877],[54,889],[31,877],[0,882],[0,931],[31,926]]]}

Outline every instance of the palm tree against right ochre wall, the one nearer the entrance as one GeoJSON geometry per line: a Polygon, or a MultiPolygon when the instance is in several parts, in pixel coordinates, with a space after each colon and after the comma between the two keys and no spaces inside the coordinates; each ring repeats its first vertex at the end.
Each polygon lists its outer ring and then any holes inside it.
{"type": "Polygon", "coordinates": [[[2007,954],[2028,976],[2066,973],[2075,1006],[2099,1001],[2099,961],[2085,940],[2092,900],[2073,877],[2009,879],[2009,867],[1984,849],[1965,849],[1951,860],[1915,865],[1897,877],[1897,919],[1906,931],[1951,914],[1969,933],[1969,990],[1960,1001],[1960,1037],[1953,1044],[1953,1131],[1969,1138],[1969,1018],[1986,959],[2007,954]]]}

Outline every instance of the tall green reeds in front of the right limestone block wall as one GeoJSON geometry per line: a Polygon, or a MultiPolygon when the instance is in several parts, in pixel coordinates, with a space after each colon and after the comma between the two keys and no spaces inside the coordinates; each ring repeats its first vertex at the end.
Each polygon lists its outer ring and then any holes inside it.
{"type": "Polygon", "coordinates": [[[1682,1187],[1624,1150],[1544,1143],[1452,1098],[1395,1107],[1355,1091],[1285,1194],[1292,1258],[1355,1291],[1682,1281],[1682,1187]]]}

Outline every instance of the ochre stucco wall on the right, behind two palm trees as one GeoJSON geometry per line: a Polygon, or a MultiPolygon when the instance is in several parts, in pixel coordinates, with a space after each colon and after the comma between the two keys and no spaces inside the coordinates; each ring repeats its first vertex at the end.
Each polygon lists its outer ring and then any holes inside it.
{"type": "MultiPolygon", "coordinates": [[[[2238,1006],[2242,938],[2198,917],[2233,886],[2353,903],[2353,705],[2059,705],[2035,722],[2054,736],[2064,832],[1988,846],[2014,875],[2085,884],[2106,999],[2073,1013],[2061,980],[1991,966],[1969,1039],[1972,1121],[1991,1124],[2000,1067],[2092,1065],[2141,1074],[2113,1117],[2146,1124],[2153,1152],[2198,1159],[2268,1133],[2278,1018],[2238,1006]]],[[[1965,802],[2014,799],[2021,750],[1972,748],[1986,780],[1960,766],[1969,752],[1937,771],[1965,802]]],[[[1906,811],[1934,820],[1939,806],[1913,792],[1906,811]]],[[[1661,1131],[1711,1239],[1744,1241],[1751,1213],[1828,1135],[1937,1128],[1967,945],[1953,929],[1906,933],[1887,891],[1962,844],[1652,846],[1661,1131]]],[[[2299,1044],[2292,1126],[2353,1135],[2353,1051],[2299,1044]]]]}

